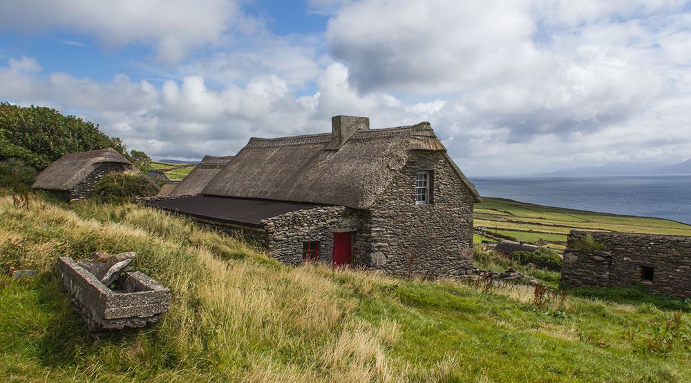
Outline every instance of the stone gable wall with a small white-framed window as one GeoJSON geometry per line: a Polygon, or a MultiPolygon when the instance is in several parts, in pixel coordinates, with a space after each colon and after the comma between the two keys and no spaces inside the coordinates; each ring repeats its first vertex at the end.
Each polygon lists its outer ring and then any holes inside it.
{"type": "Polygon", "coordinates": [[[473,197],[446,159],[411,153],[361,220],[357,262],[400,277],[460,277],[473,259],[473,197]],[[430,171],[432,202],[415,204],[418,171],[430,171]]]}

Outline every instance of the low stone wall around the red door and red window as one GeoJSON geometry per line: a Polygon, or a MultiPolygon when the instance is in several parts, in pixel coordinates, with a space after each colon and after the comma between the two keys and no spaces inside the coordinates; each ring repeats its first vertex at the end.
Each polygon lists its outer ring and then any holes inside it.
{"type": "MultiPolygon", "coordinates": [[[[319,262],[331,264],[334,232],[356,232],[359,226],[357,210],[343,206],[323,206],[297,210],[263,219],[267,232],[267,248],[279,261],[299,265],[303,259],[303,242],[319,242],[319,262]]],[[[358,233],[353,233],[353,240],[358,233]]],[[[353,248],[353,259],[355,259],[353,248]]]]}

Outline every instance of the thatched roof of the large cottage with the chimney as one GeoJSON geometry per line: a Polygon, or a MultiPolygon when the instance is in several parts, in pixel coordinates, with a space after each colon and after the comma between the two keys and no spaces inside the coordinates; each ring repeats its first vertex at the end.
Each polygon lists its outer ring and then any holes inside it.
{"type": "Polygon", "coordinates": [[[368,208],[411,150],[432,150],[444,153],[468,192],[479,199],[428,122],[359,130],[338,150],[325,150],[331,141],[330,133],[252,138],[202,194],[368,208]]]}

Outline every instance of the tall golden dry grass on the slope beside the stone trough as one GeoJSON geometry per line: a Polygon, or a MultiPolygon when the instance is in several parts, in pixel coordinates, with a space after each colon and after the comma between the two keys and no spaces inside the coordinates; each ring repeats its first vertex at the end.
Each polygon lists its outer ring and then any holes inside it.
{"type": "Polygon", "coordinates": [[[390,279],[354,282],[353,271],[281,266],[236,239],[138,206],[73,209],[37,197],[15,208],[1,197],[0,264],[50,273],[59,256],[135,251],[134,267],[172,291],[159,324],[100,348],[94,366],[77,368],[81,374],[98,377],[125,364],[151,377],[172,369],[254,382],[401,379],[404,370],[386,354],[397,324],[357,319],[345,290],[372,291],[390,279]]]}

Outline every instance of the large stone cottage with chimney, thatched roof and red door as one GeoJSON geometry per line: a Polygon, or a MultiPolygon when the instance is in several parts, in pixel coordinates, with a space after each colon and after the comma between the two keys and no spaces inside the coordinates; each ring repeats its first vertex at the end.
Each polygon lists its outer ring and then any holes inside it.
{"type": "Polygon", "coordinates": [[[473,184],[428,122],[252,138],[198,195],[146,202],[265,244],[286,264],[325,262],[404,277],[471,267],[473,184]]]}

